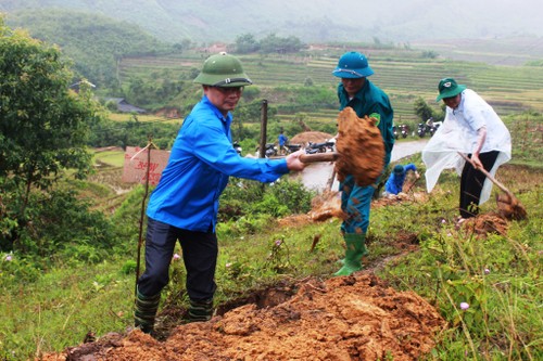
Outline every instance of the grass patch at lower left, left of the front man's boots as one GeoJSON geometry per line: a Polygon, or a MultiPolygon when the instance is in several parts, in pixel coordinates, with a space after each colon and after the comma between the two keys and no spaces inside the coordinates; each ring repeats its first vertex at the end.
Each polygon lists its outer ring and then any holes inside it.
{"type": "Polygon", "coordinates": [[[0,358],[26,360],[42,351],[63,350],[88,332],[123,332],[131,321],[134,276],[117,260],[59,266],[34,282],[0,274],[0,358]]]}

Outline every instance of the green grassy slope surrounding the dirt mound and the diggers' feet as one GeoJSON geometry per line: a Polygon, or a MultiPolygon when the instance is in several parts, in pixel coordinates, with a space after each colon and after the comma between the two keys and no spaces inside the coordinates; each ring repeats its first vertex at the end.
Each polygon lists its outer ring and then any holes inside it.
{"type": "MultiPolygon", "coordinates": [[[[412,160],[419,165],[419,156],[412,160]]],[[[465,354],[473,360],[543,357],[541,171],[519,173],[518,168],[504,166],[498,175],[530,215],[527,221],[513,222],[507,234],[476,238],[455,229],[458,179],[453,172],[443,175],[427,202],[372,210],[368,265],[390,256],[394,250],[391,242],[399,234],[413,232],[420,241],[419,252],[388,263],[379,275],[396,288],[422,295],[449,321],[430,360],[458,360],[465,354]],[[462,301],[471,305],[469,312],[459,310],[462,301]]],[[[424,184],[416,192],[424,192],[424,184]]],[[[493,211],[495,204],[489,202],[482,210],[493,211]]],[[[334,261],[343,252],[338,220],[278,228],[274,219],[245,219],[220,225],[218,237],[217,302],[285,278],[327,278],[336,271],[334,261]],[[310,253],[315,235],[320,241],[310,253]],[[277,240],[283,243],[280,252],[273,253],[277,240]]],[[[34,281],[14,280],[4,270],[0,274],[5,289],[0,296],[2,357],[16,360],[11,358],[12,351],[18,357],[60,351],[79,344],[89,331],[100,336],[130,326],[135,279],[123,269],[135,259],[136,242],[126,247],[132,256],[93,267],[59,266],[34,281]]],[[[164,293],[163,305],[184,307],[184,299],[171,297],[184,288],[181,263],[175,263],[172,272],[174,281],[164,293]]]]}

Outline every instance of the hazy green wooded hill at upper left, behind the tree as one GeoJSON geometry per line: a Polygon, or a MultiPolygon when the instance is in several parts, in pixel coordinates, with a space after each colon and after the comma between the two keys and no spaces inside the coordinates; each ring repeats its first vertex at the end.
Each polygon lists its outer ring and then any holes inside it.
{"type": "Polygon", "coordinates": [[[76,11],[31,10],[10,14],[7,24],[25,28],[34,38],[61,47],[79,77],[101,87],[115,86],[117,62],[127,55],[172,51],[134,23],[76,11]]]}

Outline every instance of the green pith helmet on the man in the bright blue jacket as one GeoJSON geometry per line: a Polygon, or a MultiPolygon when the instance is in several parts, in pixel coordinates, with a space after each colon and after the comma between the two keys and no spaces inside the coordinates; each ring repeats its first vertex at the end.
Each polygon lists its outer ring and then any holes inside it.
{"type": "Polygon", "coordinates": [[[243,73],[239,59],[225,52],[207,57],[202,72],[193,81],[223,88],[244,87],[253,83],[243,73]]]}

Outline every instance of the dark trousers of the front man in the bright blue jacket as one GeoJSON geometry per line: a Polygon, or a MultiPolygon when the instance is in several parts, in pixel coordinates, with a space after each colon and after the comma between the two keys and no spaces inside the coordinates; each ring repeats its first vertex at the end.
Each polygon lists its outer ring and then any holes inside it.
{"type": "Polygon", "coordinates": [[[213,298],[217,265],[217,236],[213,232],[179,229],[149,218],[146,237],[146,271],[138,280],[138,292],[159,294],[169,282],[169,263],[179,241],[187,270],[187,293],[192,300],[213,298]]]}

